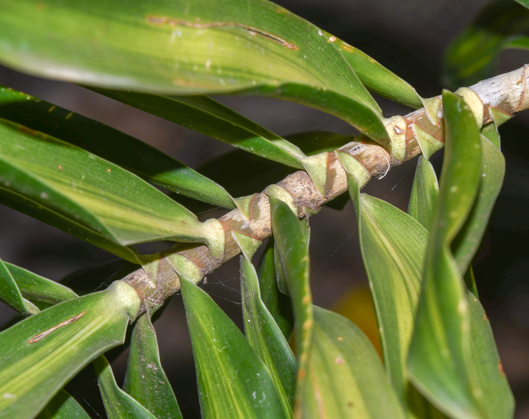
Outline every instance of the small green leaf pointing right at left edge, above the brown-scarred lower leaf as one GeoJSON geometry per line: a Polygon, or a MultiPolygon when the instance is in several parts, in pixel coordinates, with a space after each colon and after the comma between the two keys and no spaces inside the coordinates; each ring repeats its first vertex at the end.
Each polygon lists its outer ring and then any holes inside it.
{"type": "Polygon", "coordinates": [[[70,288],[27,271],[20,266],[7,262],[4,263],[4,266],[11,273],[20,292],[26,299],[46,304],[57,304],[78,297],[70,288]]]}

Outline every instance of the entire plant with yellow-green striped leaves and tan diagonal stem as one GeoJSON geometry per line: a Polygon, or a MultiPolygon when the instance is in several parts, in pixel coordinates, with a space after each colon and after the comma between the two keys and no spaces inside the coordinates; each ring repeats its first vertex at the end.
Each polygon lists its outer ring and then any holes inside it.
{"type": "MultiPolygon", "coordinates": [[[[446,55],[446,79],[458,87],[491,76],[501,50],[529,46],[522,5],[490,10],[446,55]]],[[[0,261],[0,299],[26,316],[0,333],[0,417],[89,417],[63,387],[90,362],[108,417],[181,417],[151,322],[178,291],[205,419],[513,416],[471,260],[504,178],[497,128],[529,107],[526,67],[423,98],[354,46],[265,0],[0,0],[0,62],[297,170],[232,196],[136,138],[0,88],[0,203],[137,267],[78,296],[75,286],[0,261]],[[415,110],[385,118],[370,91],[415,110]],[[214,93],[295,101],[361,134],[282,138],[214,93]],[[438,180],[428,159],[443,146],[438,180]],[[407,213],[360,192],[417,155],[407,213]],[[202,222],[153,185],[231,211],[202,222]],[[382,360],[351,321],[312,304],[308,217],[345,193],[382,360]],[[175,245],[150,255],[134,247],[158,240],[175,245]],[[244,333],[198,286],[239,254],[244,333]],[[120,388],[104,353],[123,344],[128,327],[120,388]]]]}

